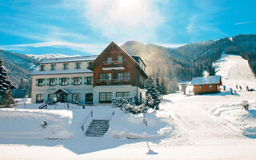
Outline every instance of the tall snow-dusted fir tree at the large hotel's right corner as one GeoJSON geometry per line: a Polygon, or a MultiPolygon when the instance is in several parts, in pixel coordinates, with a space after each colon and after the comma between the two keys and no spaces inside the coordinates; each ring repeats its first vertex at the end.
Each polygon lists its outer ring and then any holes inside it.
{"type": "Polygon", "coordinates": [[[145,106],[159,110],[159,103],[161,102],[161,95],[157,90],[156,83],[154,79],[149,77],[146,80],[146,102],[145,106]]]}

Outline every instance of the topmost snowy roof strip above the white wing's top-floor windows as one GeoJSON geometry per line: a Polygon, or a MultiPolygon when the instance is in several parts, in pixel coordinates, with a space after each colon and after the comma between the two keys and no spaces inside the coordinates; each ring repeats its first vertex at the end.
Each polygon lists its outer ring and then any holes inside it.
{"type": "Polygon", "coordinates": [[[56,62],[94,61],[94,59],[96,59],[97,57],[98,55],[71,57],[71,58],[50,58],[50,59],[43,59],[40,62],[40,64],[56,63],[56,62]]]}

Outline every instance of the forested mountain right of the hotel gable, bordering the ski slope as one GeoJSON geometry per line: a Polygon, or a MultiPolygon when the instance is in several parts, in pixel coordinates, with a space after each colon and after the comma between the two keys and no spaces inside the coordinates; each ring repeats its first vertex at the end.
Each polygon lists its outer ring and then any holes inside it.
{"type": "Polygon", "coordinates": [[[256,34],[241,34],[232,38],[222,38],[206,42],[194,42],[172,49],[142,42],[126,42],[122,48],[129,54],[142,57],[147,64],[146,72],[153,77],[162,76],[174,91],[178,81],[191,80],[202,76],[204,70],[210,75],[215,71],[212,66],[222,53],[239,54],[248,60],[256,74],[256,34]],[[173,88],[174,87],[174,88],[173,88]]]}

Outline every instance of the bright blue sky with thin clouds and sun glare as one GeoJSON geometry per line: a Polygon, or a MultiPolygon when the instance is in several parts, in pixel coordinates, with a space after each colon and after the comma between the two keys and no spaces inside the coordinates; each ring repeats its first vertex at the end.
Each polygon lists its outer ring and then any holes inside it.
{"type": "Polygon", "coordinates": [[[100,54],[112,41],[178,47],[256,34],[253,0],[0,0],[0,49],[100,54]]]}

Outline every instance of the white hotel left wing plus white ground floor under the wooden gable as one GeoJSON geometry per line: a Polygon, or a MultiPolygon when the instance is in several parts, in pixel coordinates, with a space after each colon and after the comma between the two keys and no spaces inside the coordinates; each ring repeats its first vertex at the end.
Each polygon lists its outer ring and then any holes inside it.
{"type": "Polygon", "coordinates": [[[98,104],[100,103],[99,95],[104,93],[111,93],[111,98],[117,98],[117,95],[120,96],[120,94],[130,98],[136,97],[139,101],[145,98],[146,90],[142,90],[138,86],[94,87],[93,71],[88,70],[87,67],[95,58],[78,57],[42,60],[31,73],[31,102],[51,102],[54,99],[54,101],[59,102],[63,100],[64,102],[98,104]],[[88,102],[90,95],[91,102],[88,102]],[[54,98],[50,96],[54,96],[54,98]]]}

